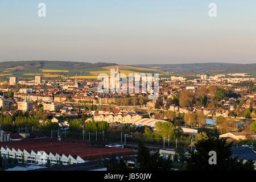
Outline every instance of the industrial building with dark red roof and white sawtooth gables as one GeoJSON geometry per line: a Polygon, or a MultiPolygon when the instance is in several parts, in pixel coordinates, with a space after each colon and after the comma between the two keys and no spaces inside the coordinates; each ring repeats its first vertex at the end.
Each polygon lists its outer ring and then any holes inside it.
{"type": "Polygon", "coordinates": [[[3,159],[24,160],[27,164],[46,166],[47,160],[51,164],[62,165],[85,163],[99,158],[106,159],[112,154],[116,156],[131,156],[136,153],[128,148],[109,148],[89,144],[86,140],[73,138],[40,138],[0,142],[3,159]]]}

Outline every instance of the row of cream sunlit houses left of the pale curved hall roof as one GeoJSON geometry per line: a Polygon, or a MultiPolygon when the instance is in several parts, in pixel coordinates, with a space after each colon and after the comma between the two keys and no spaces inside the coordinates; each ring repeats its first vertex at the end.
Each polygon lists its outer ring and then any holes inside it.
{"type": "Polygon", "coordinates": [[[135,123],[141,119],[139,114],[94,114],[94,121],[120,122],[120,123],[135,123]]]}

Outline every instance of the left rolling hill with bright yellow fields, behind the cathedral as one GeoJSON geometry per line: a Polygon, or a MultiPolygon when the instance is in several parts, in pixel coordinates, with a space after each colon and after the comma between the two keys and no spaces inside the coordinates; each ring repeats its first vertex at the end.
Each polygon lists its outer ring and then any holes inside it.
{"type": "Polygon", "coordinates": [[[114,63],[84,63],[72,61],[6,61],[0,63],[0,77],[9,76],[33,78],[35,75],[43,77],[73,78],[77,73],[79,78],[97,78],[100,73],[110,75],[110,69],[116,69],[125,75],[129,73],[161,73],[159,69],[118,65],[114,63]]]}

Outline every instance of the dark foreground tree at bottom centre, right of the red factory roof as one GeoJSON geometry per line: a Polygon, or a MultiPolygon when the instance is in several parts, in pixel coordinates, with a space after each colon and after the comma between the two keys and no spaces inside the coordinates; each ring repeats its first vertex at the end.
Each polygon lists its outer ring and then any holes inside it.
{"type": "Polygon", "coordinates": [[[171,158],[163,159],[159,152],[150,155],[150,150],[140,143],[137,152],[137,165],[139,171],[170,171],[172,160],[171,158]]]}

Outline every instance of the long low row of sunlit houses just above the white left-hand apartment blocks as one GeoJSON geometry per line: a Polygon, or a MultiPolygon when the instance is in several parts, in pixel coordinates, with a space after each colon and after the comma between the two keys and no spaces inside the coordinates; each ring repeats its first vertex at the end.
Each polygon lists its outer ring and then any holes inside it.
{"type": "Polygon", "coordinates": [[[14,97],[18,97],[22,100],[34,101],[34,102],[36,101],[53,102],[53,97],[49,95],[14,93],[14,97]]]}

